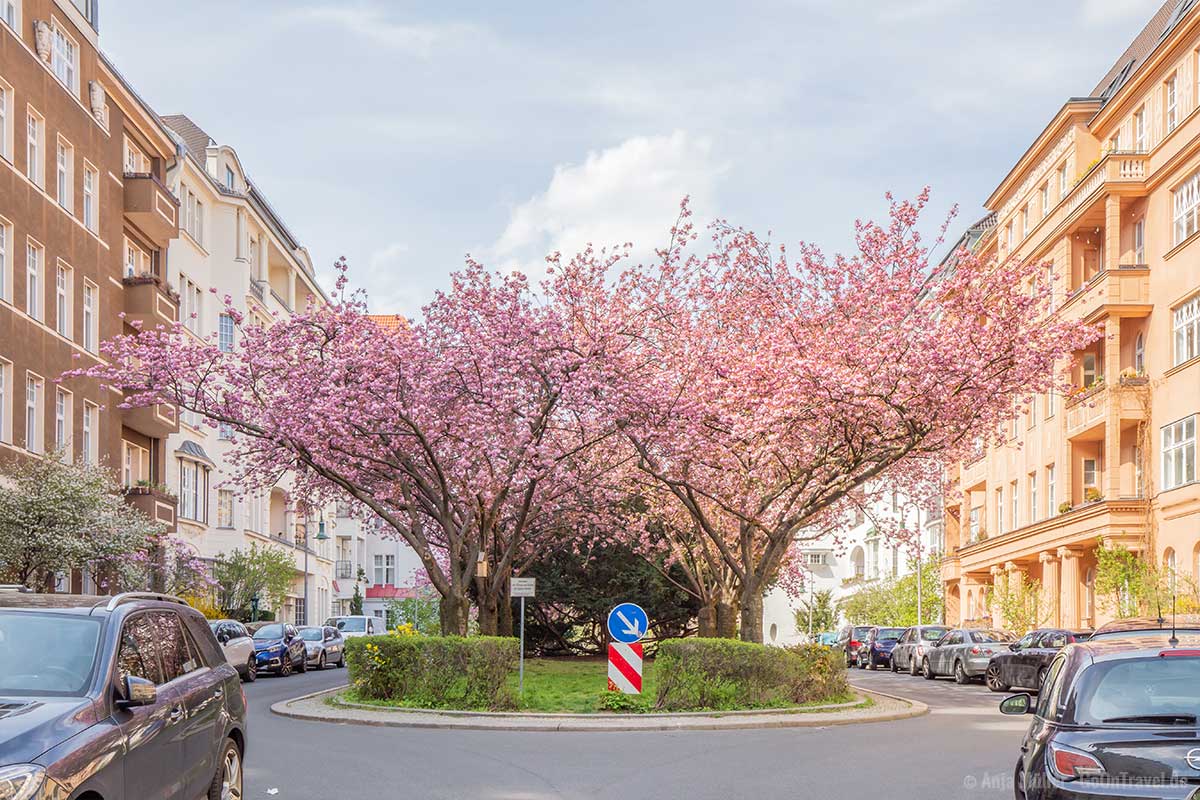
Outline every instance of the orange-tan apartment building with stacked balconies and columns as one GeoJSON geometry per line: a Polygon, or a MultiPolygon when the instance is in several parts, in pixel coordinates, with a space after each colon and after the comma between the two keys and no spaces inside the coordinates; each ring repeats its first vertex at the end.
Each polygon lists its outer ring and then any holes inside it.
{"type": "MultiPolygon", "coordinates": [[[[1075,389],[954,469],[942,577],[950,621],[1040,582],[1046,624],[1092,626],[1098,547],[1200,579],[1200,5],[1169,0],[1003,176],[971,245],[1049,264],[1055,311],[1102,336],[1075,389]]],[[[1049,277],[1049,276],[1048,276],[1049,277]]]]}

